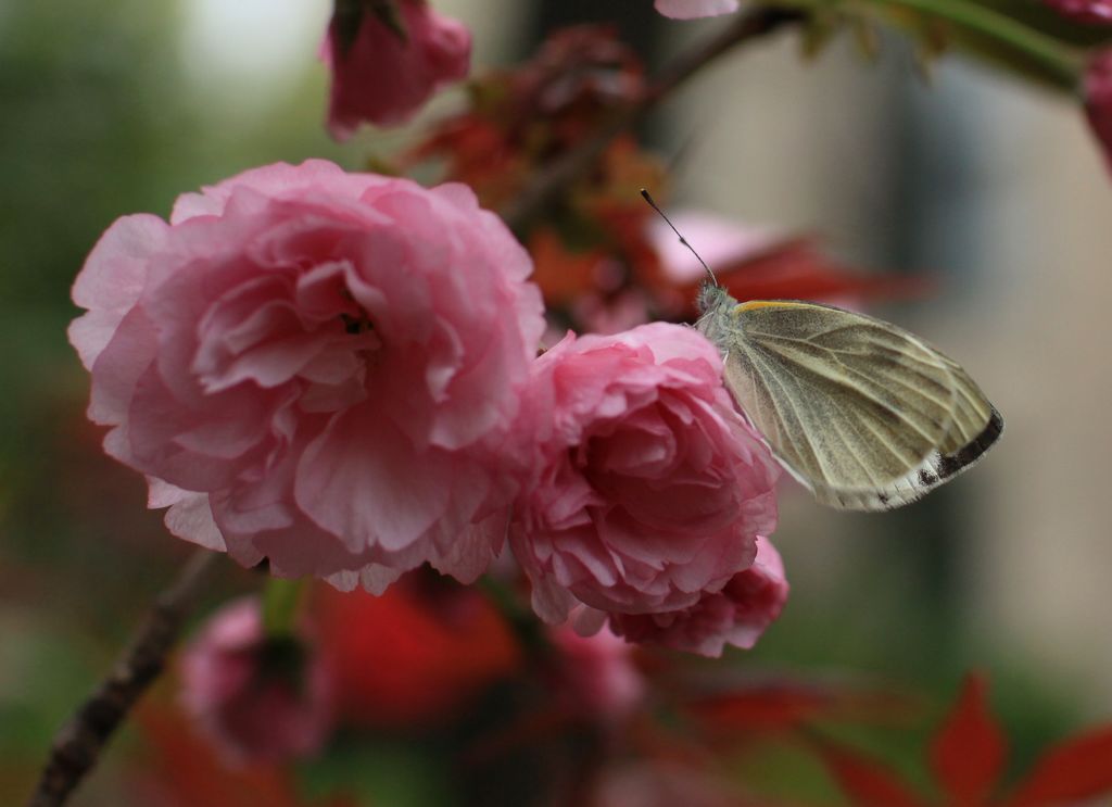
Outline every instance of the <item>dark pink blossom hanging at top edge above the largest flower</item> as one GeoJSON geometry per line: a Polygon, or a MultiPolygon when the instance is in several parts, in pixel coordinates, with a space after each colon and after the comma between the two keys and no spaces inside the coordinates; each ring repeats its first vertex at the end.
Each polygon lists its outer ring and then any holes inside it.
{"type": "Polygon", "coordinates": [[[332,74],[328,129],[346,140],[364,121],[406,122],[434,91],[467,78],[471,33],[425,0],[364,3],[354,21],[350,11],[332,17],[320,57],[332,74]]]}

